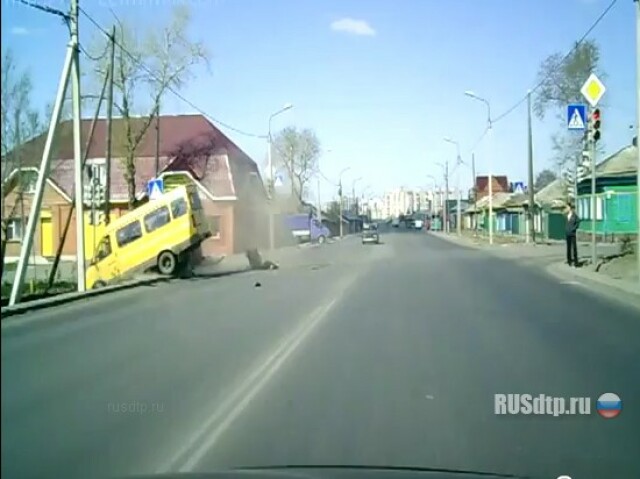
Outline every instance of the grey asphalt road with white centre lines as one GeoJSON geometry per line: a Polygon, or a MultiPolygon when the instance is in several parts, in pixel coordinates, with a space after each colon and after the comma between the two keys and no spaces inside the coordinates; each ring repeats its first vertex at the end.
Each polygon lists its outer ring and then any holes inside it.
{"type": "Polygon", "coordinates": [[[425,233],[382,240],[4,323],[3,477],[277,464],[640,477],[637,310],[425,233]],[[595,413],[604,392],[622,398],[618,418],[595,413]],[[496,416],[496,393],[586,396],[592,414],[496,416]]]}

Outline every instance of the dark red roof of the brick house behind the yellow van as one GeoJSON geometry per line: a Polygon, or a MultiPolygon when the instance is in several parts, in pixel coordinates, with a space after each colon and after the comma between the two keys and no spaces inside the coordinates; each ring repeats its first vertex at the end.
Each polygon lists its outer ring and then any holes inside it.
{"type": "MultiPolygon", "coordinates": [[[[83,143],[86,143],[91,123],[92,120],[82,120],[83,143]]],[[[134,133],[141,131],[146,123],[146,118],[132,119],[134,133]]],[[[69,196],[73,196],[74,185],[72,126],[71,121],[65,121],[58,127],[50,174],[69,196]]],[[[144,192],[147,181],[155,176],[155,126],[156,120],[153,119],[136,150],[137,194],[144,192]]],[[[124,138],[124,127],[125,123],[121,118],[113,120],[112,201],[125,201],[128,197],[121,160],[126,153],[121,140],[124,138]]],[[[106,120],[97,120],[88,159],[106,156],[106,131],[106,120]]],[[[159,135],[160,170],[189,170],[213,196],[234,196],[236,190],[240,189],[236,188],[236,184],[246,183],[246,179],[241,178],[242,175],[254,172],[260,177],[256,163],[202,115],[161,116],[159,135]]],[[[28,166],[39,166],[45,139],[46,135],[42,135],[23,146],[23,154],[29,158],[28,166]]]]}

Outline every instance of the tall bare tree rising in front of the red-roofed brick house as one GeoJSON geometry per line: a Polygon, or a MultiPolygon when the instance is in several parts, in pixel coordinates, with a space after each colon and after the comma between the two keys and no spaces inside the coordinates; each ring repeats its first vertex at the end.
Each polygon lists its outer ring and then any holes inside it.
{"type": "MultiPolygon", "coordinates": [[[[209,65],[209,55],[201,42],[188,35],[189,9],[180,5],[170,22],[162,28],[149,28],[140,34],[139,26],[118,21],[114,66],[114,109],[122,117],[121,128],[114,129],[114,145],[121,146],[129,208],[136,203],[136,151],[160,112],[168,90],[179,90],[194,76],[199,64],[209,65]],[[139,96],[144,100],[139,101],[139,96]],[[136,113],[143,112],[142,117],[136,113]]],[[[106,50],[102,38],[98,51],[106,50]]],[[[108,55],[97,62],[95,74],[102,84],[108,71],[108,55]]]]}

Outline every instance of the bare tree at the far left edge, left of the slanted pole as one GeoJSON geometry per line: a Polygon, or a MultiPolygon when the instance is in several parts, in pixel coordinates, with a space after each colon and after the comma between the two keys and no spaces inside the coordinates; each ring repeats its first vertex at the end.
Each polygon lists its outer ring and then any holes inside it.
{"type": "MultiPolygon", "coordinates": [[[[28,70],[21,69],[16,61],[13,51],[6,49],[2,53],[1,73],[1,107],[0,116],[2,123],[2,192],[0,208],[2,209],[2,245],[0,260],[4,265],[6,252],[7,230],[9,222],[14,219],[18,211],[24,223],[23,195],[32,178],[18,173],[10,182],[9,175],[23,166],[22,146],[31,138],[43,131],[43,123],[40,113],[31,105],[33,85],[28,70]],[[12,205],[5,204],[5,198],[9,190],[15,191],[18,200],[12,205]]],[[[4,270],[4,268],[3,268],[4,270]]]]}

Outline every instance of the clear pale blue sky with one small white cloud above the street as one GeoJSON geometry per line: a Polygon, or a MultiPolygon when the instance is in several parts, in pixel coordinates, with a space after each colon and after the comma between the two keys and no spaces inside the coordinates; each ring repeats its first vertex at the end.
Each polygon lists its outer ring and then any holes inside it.
{"type": "MultiPolygon", "coordinates": [[[[31,71],[33,104],[53,101],[68,40],[52,15],[2,1],[3,48],[14,49],[31,71]]],[[[32,0],[66,11],[63,0],[32,0]]],[[[273,120],[313,129],[321,141],[323,175],[357,193],[380,195],[393,188],[442,183],[440,164],[453,163],[460,144],[467,166],[455,169],[451,184],[471,186],[477,174],[527,179],[526,102],[494,124],[479,141],[486,98],[498,117],[536,84],[540,62],[567,53],[611,0],[81,0],[105,28],[114,15],[160,28],[176,4],[193,14],[190,35],[211,53],[211,68],[198,68],[181,91],[198,109],[232,125],[220,127],[261,168],[266,166],[269,116],[287,103],[293,108],[273,120]]],[[[81,17],[80,41],[98,34],[81,17]]],[[[589,38],[601,47],[607,92],[603,98],[605,152],[628,145],[636,124],[636,37],[632,0],[618,0],[589,38]]],[[[90,68],[84,60],[84,68],[90,68]]],[[[585,79],[586,80],[586,79],[585,79]]],[[[84,83],[83,83],[84,85],[84,83]]],[[[167,114],[193,113],[168,94],[167,114]]],[[[145,112],[140,112],[145,113],[145,112]]],[[[562,113],[562,112],[558,112],[562,113]]],[[[554,115],[534,118],[534,169],[553,167],[550,136],[566,128],[554,115]]],[[[315,182],[312,185],[315,190],[315,182]]],[[[322,180],[322,200],[335,185],[322,180]]]]}

